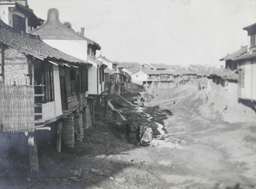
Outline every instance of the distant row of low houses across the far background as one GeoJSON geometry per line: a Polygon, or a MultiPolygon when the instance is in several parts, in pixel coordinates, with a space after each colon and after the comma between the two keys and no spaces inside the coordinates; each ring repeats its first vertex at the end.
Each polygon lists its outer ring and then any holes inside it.
{"type": "MultiPolygon", "coordinates": [[[[99,60],[103,62],[103,59],[100,57],[99,60]]],[[[112,61],[108,60],[108,65],[110,65],[108,67],[111,68],[111,64],[113,64],[112,61]]],[[[183,68],[165,64],[140,65],[136,62],[114,62],[114,69],[108,69],[105,72],[105,76],[110,78],[112,83],[131,82],[144,87],[151,83],[174,83],[178,85],[195,78],[206,77],[208,74],[208,69],[203,66],[183,68]]]]}

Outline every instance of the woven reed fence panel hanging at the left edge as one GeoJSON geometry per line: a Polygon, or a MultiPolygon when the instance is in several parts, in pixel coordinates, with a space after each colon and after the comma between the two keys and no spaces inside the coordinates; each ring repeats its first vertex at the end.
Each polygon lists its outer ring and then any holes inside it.
{"type": "Polygon", "coordinates": [[[34,131],[34,89],[0,84],[0,131],[34,131]]]}

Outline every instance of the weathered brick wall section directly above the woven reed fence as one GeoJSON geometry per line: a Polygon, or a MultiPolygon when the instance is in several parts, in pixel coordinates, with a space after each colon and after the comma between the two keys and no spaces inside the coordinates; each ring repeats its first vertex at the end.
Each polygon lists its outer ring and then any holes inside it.
{"type": "Polygon", "coordinates": [[[28,65],[25,54],[18,52],[15,49],[4,50],[4,77],[7,84],[21,84],[29,83],[28,65]]]}

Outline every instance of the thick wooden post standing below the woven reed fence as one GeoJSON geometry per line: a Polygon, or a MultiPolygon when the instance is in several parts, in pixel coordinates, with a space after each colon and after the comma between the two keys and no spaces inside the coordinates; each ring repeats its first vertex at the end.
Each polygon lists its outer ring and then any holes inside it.
{"type": "Polygon", "coordinates": [[[38,146],[35,136],[32,135],[28,138],[28,153],[31,172],[38,172],[38,146]]]}

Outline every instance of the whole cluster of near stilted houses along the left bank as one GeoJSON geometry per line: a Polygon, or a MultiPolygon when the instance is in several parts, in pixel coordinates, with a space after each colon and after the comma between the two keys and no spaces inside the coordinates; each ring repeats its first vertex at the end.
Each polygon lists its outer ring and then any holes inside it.
{"type": "Polygon", "coordinates": [[[0,132],[28,135],[32,159],[38,130],[53,136],[59,152],[61,143],[73,147],[105,98],[101,46],[83,28],[61,23],[57,9],[44,21],[26,1],[1,0],[0,7],[0,132]]]}

